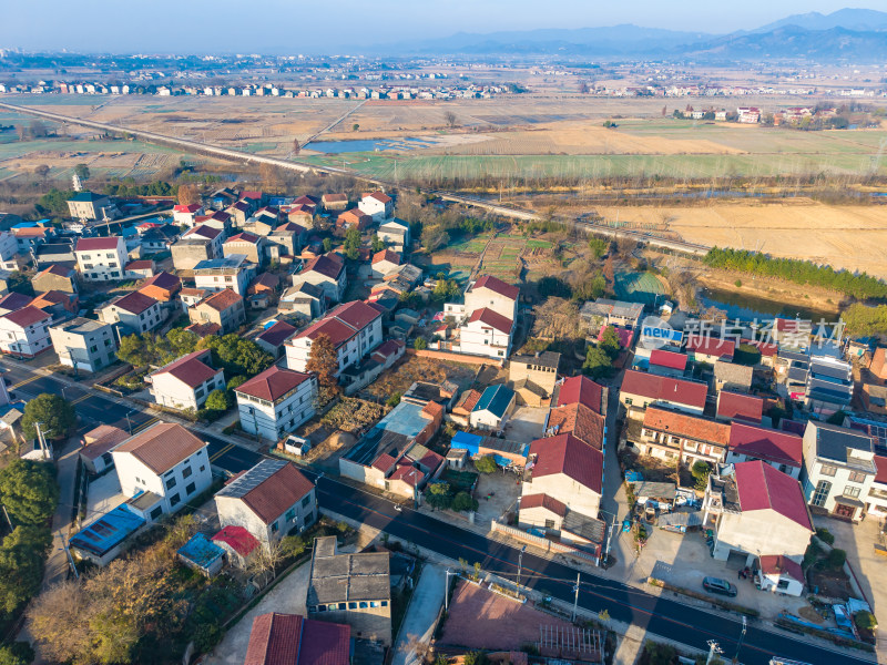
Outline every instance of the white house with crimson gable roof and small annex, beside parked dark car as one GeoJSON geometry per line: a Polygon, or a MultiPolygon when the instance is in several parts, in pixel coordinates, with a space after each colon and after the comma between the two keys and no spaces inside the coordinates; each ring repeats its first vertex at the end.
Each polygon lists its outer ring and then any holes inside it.
{"type": "Polygon", "coordinates": [[[762,461],[730,464],[708,477],[703,511],[714,559],[745,554],[762,591],[803,593],[801,562],[814,529],[797,480],[762,461]]]}

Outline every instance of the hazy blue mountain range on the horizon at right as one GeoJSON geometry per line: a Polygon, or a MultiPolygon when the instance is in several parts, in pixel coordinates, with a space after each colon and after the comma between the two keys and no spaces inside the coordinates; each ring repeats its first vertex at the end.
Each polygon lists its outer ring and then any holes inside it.
{"type": "Polygon", "coordinates": [[[887,59],[887,12],[842,9],[795,14],[756,30],[717,35],[632,24],[612,28],[542,29],[400,42],[391,53],[463,55],[562,55],[594,59],[694,60],[799,59],[878,62],[887,59]]]}

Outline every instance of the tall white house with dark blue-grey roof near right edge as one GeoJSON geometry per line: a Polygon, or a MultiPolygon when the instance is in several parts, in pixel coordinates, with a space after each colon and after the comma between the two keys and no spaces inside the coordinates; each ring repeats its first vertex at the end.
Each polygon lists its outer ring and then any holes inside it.
{"type": "Polygon", "coordinates": [[[807,421],[801,480],[812,508],[860,520],[876,474],[875,446],[869,434],[807,421]]]}

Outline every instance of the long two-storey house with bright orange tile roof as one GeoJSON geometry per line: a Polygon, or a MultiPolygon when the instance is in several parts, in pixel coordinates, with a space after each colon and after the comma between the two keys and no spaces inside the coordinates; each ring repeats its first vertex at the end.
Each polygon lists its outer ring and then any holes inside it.
{"type": "Polygon", "coordinates": [[[629,426],[629,440],[642,453],[677,459],[689,468],[697,461],[723,462],[730,443],[728,424],[657,407],[644,411],[636,440],[632,440],[632,429],[629,426]]]}

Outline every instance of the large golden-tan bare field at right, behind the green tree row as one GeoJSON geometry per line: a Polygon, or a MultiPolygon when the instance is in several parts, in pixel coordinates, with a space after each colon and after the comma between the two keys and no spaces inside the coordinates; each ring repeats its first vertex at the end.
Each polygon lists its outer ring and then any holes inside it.
{"type": "Polygon", "coordinates": [[[599,207],[606,218],[661,224],[686,241],[803,258],[887,278],[887,206],[713,203],[697,207],[599,207]]]}

